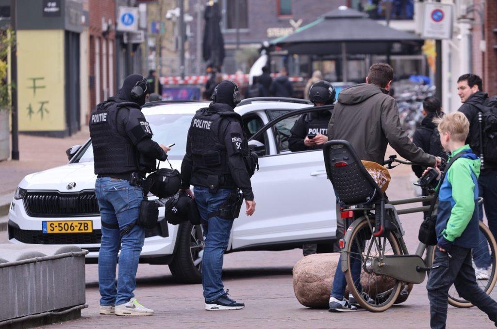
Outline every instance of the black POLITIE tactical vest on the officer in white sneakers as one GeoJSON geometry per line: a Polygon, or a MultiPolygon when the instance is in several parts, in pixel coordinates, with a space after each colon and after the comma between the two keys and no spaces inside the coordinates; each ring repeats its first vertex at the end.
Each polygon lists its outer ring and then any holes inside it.
{"type": "Polygon", "coordinates": [[[96,175],[138,170],[136,147],[117,131],[117,113],[121,107],[137,107],[137,104],[104,102],[91,112],[89,129],[96,175]]]}

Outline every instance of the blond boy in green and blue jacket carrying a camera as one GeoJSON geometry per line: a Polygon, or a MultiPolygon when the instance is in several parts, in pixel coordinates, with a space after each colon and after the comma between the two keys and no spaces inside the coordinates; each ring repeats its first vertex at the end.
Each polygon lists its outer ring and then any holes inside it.
{"type": "MultiPolygon", "coordinates": [[[[430,301],[430,325],[431,328],[445,328],[447,294],[452,284],[462,298],[473,303],[496,323],[497,302],[480,289],[472,266],[471,249],[478,247],[479,242],[480,159],[469,145],[465,145],[469,121],[464,114],[455,112],[434,122],[438,123],[443,148],[451,153],[449,161],[456,154],[461,155],[450,166],[439,185],[435,228],[438,243],[426,285],[430,301]]],[[[438,179],[440,177],[439,173],[438,179]]]]}

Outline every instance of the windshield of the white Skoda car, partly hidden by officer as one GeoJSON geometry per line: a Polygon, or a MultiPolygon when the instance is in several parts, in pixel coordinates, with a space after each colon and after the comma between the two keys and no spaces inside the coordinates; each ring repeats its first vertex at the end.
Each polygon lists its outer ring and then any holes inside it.
{"type": "MultiPolygon", "coordinates": [[[[167,152],[167,158],[171,160],[182,159],[186,149],[186,135],[193,114],[154,114],[146,117],[154,133],[153,140],[164,145],[176,144],[167,152]]],[[[85,150],[74,162],[92,161],[93,147],[91,147],[90,142],[85,145],[85,150]]]]}

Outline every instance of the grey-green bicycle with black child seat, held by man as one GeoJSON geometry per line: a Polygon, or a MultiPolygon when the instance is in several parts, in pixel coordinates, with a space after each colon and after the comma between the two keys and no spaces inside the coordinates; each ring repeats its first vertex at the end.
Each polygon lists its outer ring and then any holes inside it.
{"type": "MultiPolygon", "coordinates": [[[[345,227],[348,228],[340,241],[340,266],[348,289],[364,309],[371,312],[386,311],[399,295],[409,293],[409,284],[424,281],[434,258],[434,246],[423,243],[419,243],[414,254],[409,253],[399,219],[401,214],[429,211],[430,206],[400,210],[395,206],[430,201],[434,196],[390,201],[347,141],[328,141],[323,151],[328,178],[341,206],[345,207],[342,217],[346,217],[345,227]],[[361,294],[362,291],[367,295],[361,294]],[[371,298],[370,302],[367,296],[371,298]]],[[[394,162],[411,164],[395,157],[385,160],[384,164],[393,168],[396,166],[392,165],[394,162]]],[[[436,208],[433,213],[435,211],[436,208]]],[[[497,245],[483,222],[480,222],[480,232],[484,238],[480,246],[473,249],[473,260],[477,257],[491,258],[490,278],[479,280],[481,288],[490,294],[497,281],[497,245]]],[[[473,306],[459,296],[454,286],[449,290],[449,304],[461,308],[473,306]]]]}

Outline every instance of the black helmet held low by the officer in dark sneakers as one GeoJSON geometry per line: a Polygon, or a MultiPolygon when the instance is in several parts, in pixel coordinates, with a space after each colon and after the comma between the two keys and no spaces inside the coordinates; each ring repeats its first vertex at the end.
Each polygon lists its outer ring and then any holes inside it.
{"type": "Polygon", "coordinates": [[[195,200],[184,191],[167,198],[165,207],[166,221],[172,225],[181,224],[188,220],[193,225],[199,225],[201,222],[195,200]]]}

